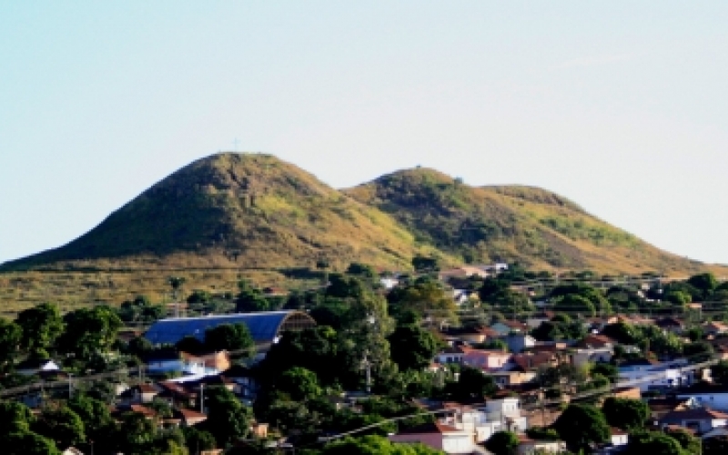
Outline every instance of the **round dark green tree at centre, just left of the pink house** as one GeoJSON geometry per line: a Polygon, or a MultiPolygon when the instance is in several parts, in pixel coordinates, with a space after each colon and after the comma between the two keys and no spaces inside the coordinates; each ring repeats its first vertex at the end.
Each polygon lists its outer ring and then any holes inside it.
{"type": "Polygon", "coordinates": [[[391,358],[399,370],[422,370],[437,354],[440,343],[428,330],[420,326],[400,326],[389,335],[391,358]]]}

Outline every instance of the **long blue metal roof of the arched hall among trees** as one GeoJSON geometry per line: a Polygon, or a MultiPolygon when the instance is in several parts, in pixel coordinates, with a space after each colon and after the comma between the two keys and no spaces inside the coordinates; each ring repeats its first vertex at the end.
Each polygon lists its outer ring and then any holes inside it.
{"type": "Polygon", "coordinates": [[[152,344],[175,344],[180,339],[192,336],[205,340],[205,330],[222,324],[244,322],[256,343],[270,343],[278,335],[283,321],[298,311],[267,311],[260,313],[236,313],[199,318],[159,319],[144,335],[152,344]]]}

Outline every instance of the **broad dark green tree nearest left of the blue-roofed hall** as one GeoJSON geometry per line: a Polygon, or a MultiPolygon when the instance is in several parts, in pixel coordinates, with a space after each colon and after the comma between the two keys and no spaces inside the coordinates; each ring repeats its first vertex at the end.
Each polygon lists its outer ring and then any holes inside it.
{"type": "Polygon", "coordinates": [[[122,321],[106,306],[80,308],[64,317],[66,331],[58,339],[59,350],[77,359],[91,359],[111,349],[122,321]]]}

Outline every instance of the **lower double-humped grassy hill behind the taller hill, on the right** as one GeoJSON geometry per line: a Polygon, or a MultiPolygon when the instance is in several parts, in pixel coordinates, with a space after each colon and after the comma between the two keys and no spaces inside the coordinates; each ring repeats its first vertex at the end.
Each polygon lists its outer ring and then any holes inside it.
{"type": "Polygon", "coordinates": [[[535,269],[609,273],[706,268],[654,248],[541,188],[470,187],[436,170],[416,168],[346,193],[394,217],[419,243],[470,263],[517,260],[535,269]]]}

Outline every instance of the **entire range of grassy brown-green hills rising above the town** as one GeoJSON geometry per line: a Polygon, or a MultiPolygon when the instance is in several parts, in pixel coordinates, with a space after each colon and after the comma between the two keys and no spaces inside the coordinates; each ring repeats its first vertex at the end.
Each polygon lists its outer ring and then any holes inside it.
{"type": "Polygon", "coordinates": [[[692,272],[701,263],[650,246],[535,187],[471,187],[428,168],[337,190],[264,154],[222,153],[182,167],[66,246],[10,269],[286,268],[367,262],[408,268],[520,261],[531,268],[692,272]]]}

